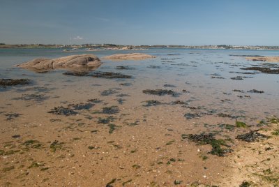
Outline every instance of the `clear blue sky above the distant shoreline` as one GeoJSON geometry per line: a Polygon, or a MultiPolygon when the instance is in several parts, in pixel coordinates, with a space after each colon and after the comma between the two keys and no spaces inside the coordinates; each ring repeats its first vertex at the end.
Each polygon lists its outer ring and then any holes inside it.
{"type": "Polygon", "coordinates": [[[279,45],[279,1],[0,0],[0,43],[279,45]]]}

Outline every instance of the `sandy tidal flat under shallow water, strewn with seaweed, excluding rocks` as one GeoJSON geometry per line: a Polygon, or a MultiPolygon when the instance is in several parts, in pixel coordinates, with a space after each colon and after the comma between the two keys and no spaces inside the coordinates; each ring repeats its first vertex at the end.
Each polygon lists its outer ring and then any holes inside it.
{"type": "Polygon", "coordinates": [[[279,185],[279,63],[245,58],[278,51],[70,53],[102,65],[35,73],[13,66],[65,52],[0,49],[0,186],[279,185]]]}

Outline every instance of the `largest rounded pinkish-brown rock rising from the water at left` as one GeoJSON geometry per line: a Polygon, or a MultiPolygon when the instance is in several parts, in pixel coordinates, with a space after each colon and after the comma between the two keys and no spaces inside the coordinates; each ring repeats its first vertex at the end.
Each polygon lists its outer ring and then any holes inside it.
{"type": "Polygon", "coordinates": [[[71,70],[95,70],[100,65],[101,61],[95,55],[78,54],[57,59],[33,59],[16,66],[40,73],[59,68],[67,68],[71,70]]]}

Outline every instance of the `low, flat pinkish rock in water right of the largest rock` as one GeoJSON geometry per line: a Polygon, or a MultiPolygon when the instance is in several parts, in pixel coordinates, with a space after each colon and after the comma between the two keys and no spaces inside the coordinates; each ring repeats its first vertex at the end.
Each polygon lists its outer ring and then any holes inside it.
{"type": "Polygon", "coordinates": [[[110,60],[143,60],[143,59],[151,59],[156,57],[150,54],[129,53],[129,54],[113,54],[103,58],[110,59],[110,60]]]}

